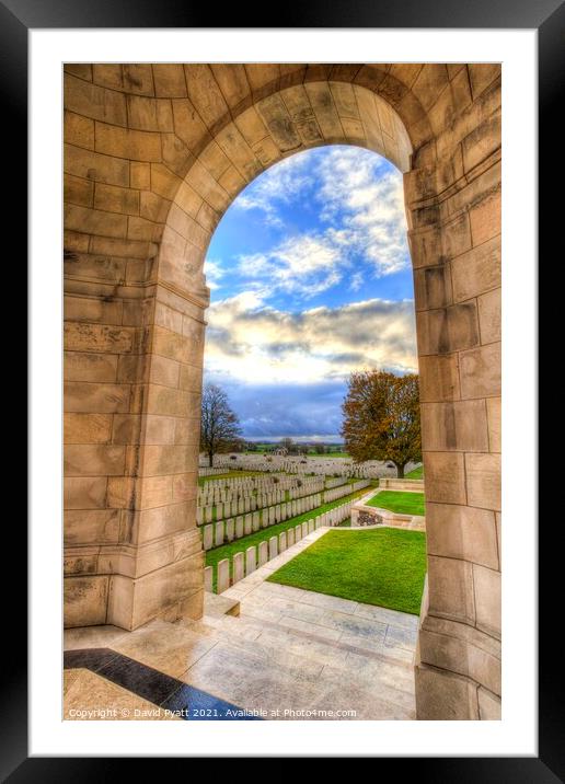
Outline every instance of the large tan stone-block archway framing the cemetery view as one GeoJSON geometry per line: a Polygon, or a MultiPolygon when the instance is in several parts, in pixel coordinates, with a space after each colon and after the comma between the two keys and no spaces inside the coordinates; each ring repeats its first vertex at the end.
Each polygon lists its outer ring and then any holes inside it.
{"type": "Polygon", "coordinates": [[[201,614],[206,247],[264,169],[355,143],[404,172],[428,528],[418,717],[497,716],[499,66],[67,66],[65,105],[66,624],[201,614]]]}

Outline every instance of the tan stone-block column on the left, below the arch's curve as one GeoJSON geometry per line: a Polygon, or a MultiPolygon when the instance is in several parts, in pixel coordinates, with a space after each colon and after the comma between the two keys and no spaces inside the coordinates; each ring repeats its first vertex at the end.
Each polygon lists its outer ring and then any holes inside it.
{"type": "Polygon", "coordinates": [[[160,285],[150,244],[66,232],[67,626],[201,615],[207,301],[160,285]]]}

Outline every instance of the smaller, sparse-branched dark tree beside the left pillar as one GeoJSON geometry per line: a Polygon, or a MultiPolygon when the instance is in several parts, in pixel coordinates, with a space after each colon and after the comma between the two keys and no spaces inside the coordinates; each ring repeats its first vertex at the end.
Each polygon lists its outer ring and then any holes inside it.
{"type": "Polygon", "coordinates": [[[232,411],[228,395],[217,384],[207,383],[203,390],[200,449],[208,454],[209,465],[214,456],[230,451],[238,443],[240,425],[232,411]]]}

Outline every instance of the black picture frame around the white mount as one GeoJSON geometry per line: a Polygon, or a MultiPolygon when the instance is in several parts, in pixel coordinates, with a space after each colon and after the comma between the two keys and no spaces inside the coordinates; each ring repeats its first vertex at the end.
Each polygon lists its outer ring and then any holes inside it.
{"type": "MultiPolygon", "coordinates": [[[[221,27],[402,27],[402,28],[535,28],[539,36],[539,150],[540,256],[555,237],[555,228],[563,220],[560,198],[554,198],[551,183],[563,182],[561,145],[562,123],[557,113],[560,87],[564,79],[565,5],[562,0],[395,0],[394,3],[369,0],[315,0],[308,7],[277,7],[276,25],[257,24],[256,19],[243,19],[238,5],[222,7],[221,27]],[[560,143],[561,142],[561,143],[560,143]],[[550,164],[551,155],[551,164],[550,164]],[[558,159],[558,160],[556,160],[558,159]],[[551,177],[551,178],[550,178],[551,177]],[[557,212],[558,210],[558,212],[557,212]]],[[[0,90],[4,109],[7,138],[3,147],[5,182],[9,185],[10,232],[16,231],[18,262],[23,268],[27,228],[23,205],[27,201],[27,34],[30,28],[73,27],[217,27],[217,10],[204,3],[201,8],[176,0],[3,0],[0,2],[0,90]],[[9,151],[9,154],[7,152],[9,151]],[[11,171],[10,171],[11,170],[11,171]],[[20,228],[20,231],[15,227],[20,228]]],[[[555,258],[557,262],[558,260],[555,258]]],[[[555,265],[557,266],[557,265],[555,265]]],[[[547,285],[547,281],[545,281],[547,285]]],[[[551,277],[552,289],[555,277],[551,277]]],[[[540,295],[544,291],[540,283],[540,295]]],[[[540,364],[550,361],[549,332],[541,332],[540,364]]],[[[32,380],[33,381],[33,380],[32,380]]],[[[35,382],[37,382],[35,380],[35,382]]],[[[560,384],[547,390],[544,407],[561,410],[560,384]]],[[[550,446],[551,434],[540,435],[540,454],[550,446]]],[[[540,476],[540,482],[542,482],[540,476]]],[[[543,483],[540,491],[543,489],[543,483]]],[[[542,497],[542,492],[540,492],[542,497]]],[[[555,518],[555,516],[554,516],[555,518]]],[[[26,550],[26,531],[22,520],[10,519],[10,552],[26,550]]],[[[554,576],[563,570],[561,554],[554,546],[551,523],[540,530],[540,652],[539,652],[539,757],[537,758],[402,758],[380,759],[379,775],[387,775],[381,765],[392,762],[399,774],[413,773],[419,781],[434,782],[522,782],[550,784],[565,781],[565,720],[563,711],[563,665],[561,648],[556,650],[555,619],[560,618],[554,576]],[[550,529],[550,530],[547,530],[550,529]],[[561,568],[560,568],[561,567],[561,568]]],[[[27,752],[27,672],[26,672],[26,597],[25,587],[18,585],[13,600],[3,602],[4,653],[9,666],[1,672],[0,713],[0,775],[2,781],[61,782],[80,780],[104,781],[117,772],[120,759],[103,758],[28,758],[27,752]]],[[[512,653],[514,655],[514,653],[512,653]]],[[[449,749],[446,749],[449,754],[449,749]]],[[[331,750],[328,754],[331,756],[331,750]]],[[[367,754],[370,756],[370,754],[367,754]]],[[[148,761],[149,762],[149,761],[148,761]]],[[[177,760],[177,762],[183,762],[177,760]]],[[[162,771],[160,771],[162,775],[162,771]]],[[[159,773],[155,771],[155,774],[159,773]]],[[[186,772],[184,773],[186,775],[186,772]]]]}

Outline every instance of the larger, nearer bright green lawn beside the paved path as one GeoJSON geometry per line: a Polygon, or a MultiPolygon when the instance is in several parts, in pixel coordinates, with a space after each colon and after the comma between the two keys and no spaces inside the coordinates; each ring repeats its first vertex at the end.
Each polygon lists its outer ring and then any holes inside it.
{"type": "Polygon", "coordinates": [[[425,575],[426,534],[382,528],[328,531],[267,579],[417,615],[425,575]]]}

